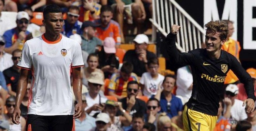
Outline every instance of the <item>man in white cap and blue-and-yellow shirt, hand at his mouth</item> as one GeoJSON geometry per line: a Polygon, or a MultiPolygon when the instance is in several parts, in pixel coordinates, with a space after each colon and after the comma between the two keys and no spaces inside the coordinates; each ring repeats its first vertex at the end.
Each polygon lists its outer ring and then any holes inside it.
{"type": "Polygon", "coordinates": [[[27,31],[29,19],[27,12],[18,12],[16,20],[17,27],[7,30],[3,34],[3,39],[5,40],[5,52],[12,54],[16,49],[22,50],[22,47],[26,42],[26,36],[30,33],[27,31]]]}

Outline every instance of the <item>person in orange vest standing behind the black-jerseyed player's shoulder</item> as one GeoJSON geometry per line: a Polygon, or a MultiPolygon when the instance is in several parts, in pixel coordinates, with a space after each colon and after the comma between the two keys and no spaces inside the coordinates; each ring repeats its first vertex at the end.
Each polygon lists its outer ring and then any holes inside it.
{"type": "MultiPolygon", "coordinates": [[[[223,21],[225,21],[228,25],[228,36],[227,36],[227,41],[222,45],[221,49],[234,55],[237,58],[237,60],[240,62],[239,60],[239,52],[241,50],[240,44],[238,41],[231,38],[234,33],[234,26],[233,26],[234,22],[230,20],[223,20],[223,21]]],[[[237,83],[240,83],[238,81],[237,76],[235,76],[234,72],[230,70],[227,74],[224,84],[237,84],[237,83]]]]}

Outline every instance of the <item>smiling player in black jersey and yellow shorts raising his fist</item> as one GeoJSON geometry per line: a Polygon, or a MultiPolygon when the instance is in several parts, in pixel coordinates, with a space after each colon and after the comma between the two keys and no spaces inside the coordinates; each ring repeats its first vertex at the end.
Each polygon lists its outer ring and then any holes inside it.
{"type": "Polygon", "coordinates": [[[220,102],[224,91],[224,81],[231,69],[245,85],[247,99],[243,105],[247,112],[254,111],[254,86],[251,76],[243,69],[237,59],[221,50],[228,35],[226,22],[216,20],[206,25],[206,49],[195,49],[179,53],[175,45],[175,35],[180,26],[173,25],[165,44],[171,61],[176,64],[190,65],[193,74],[192,96],[183,112],[183,124],[186,131],[213,131],[220,102]]]}

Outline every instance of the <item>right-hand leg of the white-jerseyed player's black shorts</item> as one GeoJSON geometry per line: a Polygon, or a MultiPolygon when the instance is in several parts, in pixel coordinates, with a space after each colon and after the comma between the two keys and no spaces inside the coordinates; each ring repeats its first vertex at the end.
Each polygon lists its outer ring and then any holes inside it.
{"type": "Polygon", "coordinates": [[[52,116],[50,131],[74,131],[73,115],[52,116]]]}

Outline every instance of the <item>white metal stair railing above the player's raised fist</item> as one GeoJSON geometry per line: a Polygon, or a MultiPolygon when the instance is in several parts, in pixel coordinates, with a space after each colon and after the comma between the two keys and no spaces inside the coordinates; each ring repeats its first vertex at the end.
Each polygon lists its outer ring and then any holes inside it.
{"type": "MultiPolygon", "coordinates": [[[[176,36],[176,46],[181,52],[201,48],[205,30],[175,0],[153,0],[153,16],[150,18],[153,32],[159,30],[167,36],[173,24],[182,28],[176,36]]],[[[156,41],[156,34],[152,34],[156,41]]]]}

